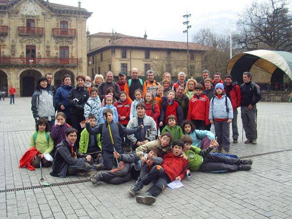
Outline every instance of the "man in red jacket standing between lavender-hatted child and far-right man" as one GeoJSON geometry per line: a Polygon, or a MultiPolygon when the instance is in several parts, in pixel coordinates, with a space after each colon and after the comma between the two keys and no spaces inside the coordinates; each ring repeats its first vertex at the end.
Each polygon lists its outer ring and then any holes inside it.
{"type": "Polygon", "coordinates": [[[224,78],[224,93],[229,97],[232,109],[233,109],[233,119],[232,119],[232,137],[233,143],[237,143],[238,139],[238,128],[237,128],[237,107],[240,107],[241,103],[241,93],[240,88],[237,83],[233,82],[233,78],[230,74],[226,75],[224,78]]]}

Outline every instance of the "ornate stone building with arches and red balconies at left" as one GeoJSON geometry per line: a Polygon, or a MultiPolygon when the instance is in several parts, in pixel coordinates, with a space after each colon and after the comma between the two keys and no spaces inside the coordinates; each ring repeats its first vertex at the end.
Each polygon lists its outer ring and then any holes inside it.
{"type": "Polygon", "coordinates": [[[53,73],[56,87],[66,73],[72,78],[87,74],[86,20],[91,12],[78,4],[0,0],[0,90],[13,85],[18,96],[31,96],[46,73],[53,73]]]}

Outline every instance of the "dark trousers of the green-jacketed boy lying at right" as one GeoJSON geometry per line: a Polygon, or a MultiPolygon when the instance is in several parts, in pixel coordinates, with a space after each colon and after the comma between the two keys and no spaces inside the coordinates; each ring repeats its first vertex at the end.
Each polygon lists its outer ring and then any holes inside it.
{"type": "Polygon", "coordinates": [[[238,165],[241,160],[228,156],[218,156],[208,154],[203,156],[203,163],[201,164],[199,171],[201,172],[213,172],[213,171],[237,171],[238,165]]]}

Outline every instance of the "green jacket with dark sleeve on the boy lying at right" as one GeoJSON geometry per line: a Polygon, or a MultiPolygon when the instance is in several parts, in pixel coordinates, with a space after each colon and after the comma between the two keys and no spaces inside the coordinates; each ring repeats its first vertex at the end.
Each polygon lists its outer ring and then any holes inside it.
{"type": "Polygon", "coordinates": [[[188,151],[184,152],[185,156],[189,160],[188,169],[190,171],[197,171],[203,162],[203,156],[207,155],[212,149],[213,148],[208,147],[201,150],[199,147],[191,146],[188,151]]]}

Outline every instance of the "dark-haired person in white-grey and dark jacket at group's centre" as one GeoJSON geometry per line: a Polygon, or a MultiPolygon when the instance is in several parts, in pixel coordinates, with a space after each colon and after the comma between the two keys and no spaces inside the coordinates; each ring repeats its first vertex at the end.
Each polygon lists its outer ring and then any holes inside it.
{"type": "Polygon", "coordinates": [[[143,102],[140,102],[136,105],[137,116],[130,119],[128,122],[127,128],[137,128],[140,125],[143,125],[141,131],[128,135],[128,139],[131,142],[132,149],[135,150],[136,147],[146,144],[147,142],[153,141],[157,135],[157,128],[154,119],[150,116],[147,116],[146,106],[143,102]]]}

